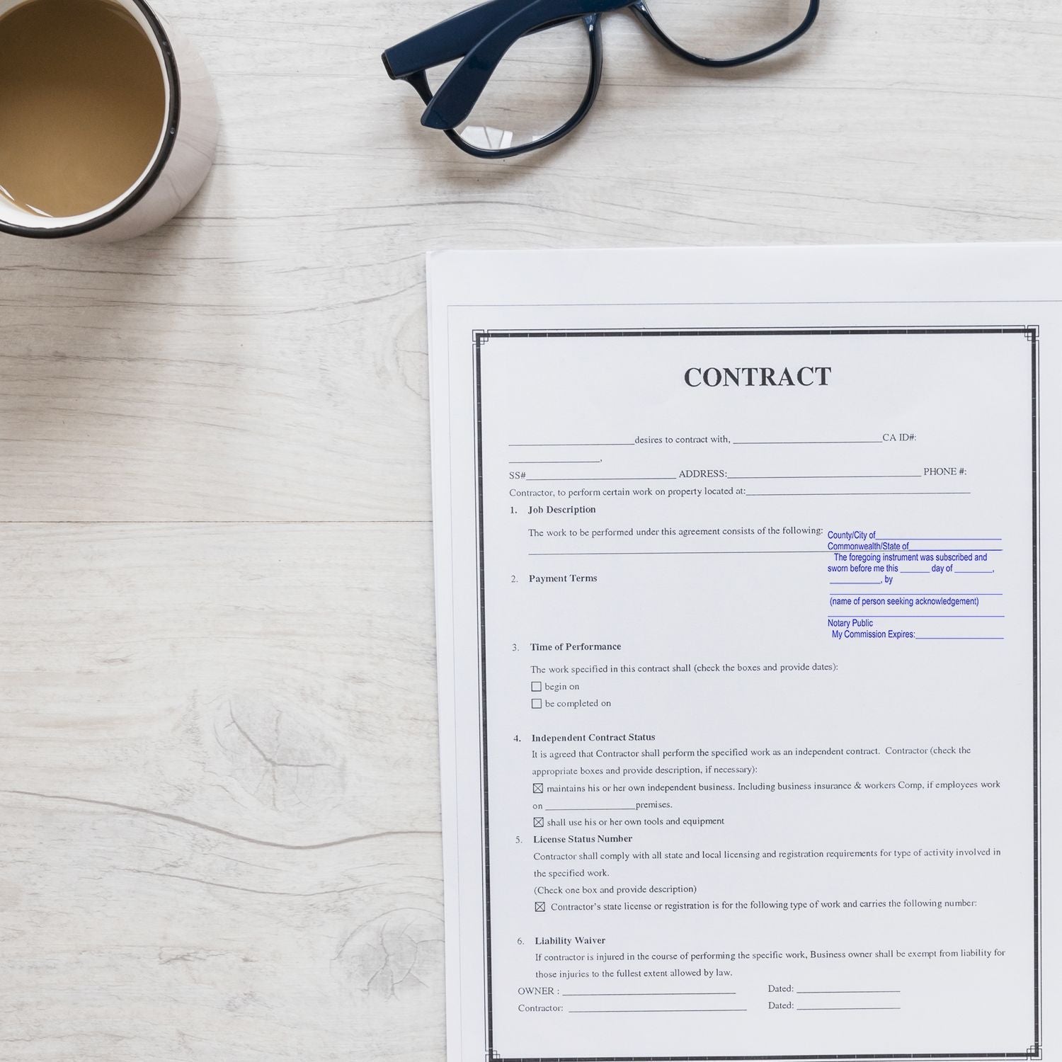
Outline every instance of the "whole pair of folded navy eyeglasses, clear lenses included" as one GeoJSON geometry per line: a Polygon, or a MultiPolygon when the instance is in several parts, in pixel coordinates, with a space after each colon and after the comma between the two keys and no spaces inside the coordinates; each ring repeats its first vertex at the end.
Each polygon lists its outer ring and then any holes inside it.
{"type": "Polygon", "coordinates": [[[736,67],[803,36],[819,0],[489,0],[389,48],[383,66],[427,104],[422,125],[469,155],[520,155],[586,117],[601,84],[601,15],[623,8],[680,58],[736,67]]]}

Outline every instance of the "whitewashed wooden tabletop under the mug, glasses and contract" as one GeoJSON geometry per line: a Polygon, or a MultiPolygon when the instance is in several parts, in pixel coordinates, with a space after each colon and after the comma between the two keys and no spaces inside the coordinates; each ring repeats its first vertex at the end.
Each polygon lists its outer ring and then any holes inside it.
{"type": "Polygon", "coordinates": [[[204,193],[0,242],[4,1062],[442,1058],[426,251],[1062,239],[1057,0],[824,0],[716,76],[611,16],[503,164],[379,63],[459,5],[159,0],[204,193]]]}

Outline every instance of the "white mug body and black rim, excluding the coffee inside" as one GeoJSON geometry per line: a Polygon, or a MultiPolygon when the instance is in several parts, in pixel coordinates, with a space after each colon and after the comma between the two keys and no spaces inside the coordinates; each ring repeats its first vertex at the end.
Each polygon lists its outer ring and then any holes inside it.
{"type": "MultiPolygon", "coordinates": [[[[23,2],[0,0],[0,17],[23,2]]],[[[36,239],[126,240],[169,221],[206,179],[218,144],[218,104],[202,57],[144,0],[110,2],[143,30],[162,73],[167,119],[152,159],[118,199],[76,217],[40,217],[0,196],[0,232],[36,239]]]]}

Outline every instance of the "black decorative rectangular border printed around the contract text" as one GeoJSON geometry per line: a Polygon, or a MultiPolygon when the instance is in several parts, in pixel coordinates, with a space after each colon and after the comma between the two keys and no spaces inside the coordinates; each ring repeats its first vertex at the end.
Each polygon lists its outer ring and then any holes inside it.
{"type": "Polygon", "coordinates": [[[869,1060],[921,1059],[1027,1059],[1043,1058],[1041,1043],[1041,994],[1042,957],[1040,912],[1040,326],[1020,325],[1001,328],[989,327],[912,327],[912,328],[665,328],[665,329],[545,329],[524,331],[482,330],[473,332],[473,357],[475,370],[475,415],[476,415],[476,548],[479,558],[478,601],[479,601],[479,675],[480,675],[480,759],[481,759],[481,820],[480,833],[483,844],[483,941],[486,964],[484,970],[484,998],[486,1001],[486,1051],[485,1062],[869,1062],[869,1060]],[[630,1058],[617,1056],[578,1058],[503,1058],[494,1049],[494,1013],[492,984],[492,940],[491,940],[491,830],[490,792],[487,770],[486,729],[486,595],[483,551],[483,441],[482,395],[480,389],[480,366],[483,346],[492,339],[656,339],[665,337],[733,337],[733,336],[973,336],[973,335],[1018,335],[1025,336],[1030,344],[1032,359],[1032,924],[1033,924],[1033,1041],[1020,1051],[986,1051],[983,1054],[903,1054],[903,1055],[696,1055],[696,1056],[648,1056],[630,1058]]]}

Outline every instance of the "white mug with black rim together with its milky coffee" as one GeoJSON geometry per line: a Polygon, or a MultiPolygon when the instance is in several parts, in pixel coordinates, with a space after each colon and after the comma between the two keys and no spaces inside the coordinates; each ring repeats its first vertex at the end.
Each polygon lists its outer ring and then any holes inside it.
{"type": "Polygon", "coordinates": [[[195,193],[216,138],[202,61],[143,0],[0,0],[0,229],[145,232],[195,193]]]}

